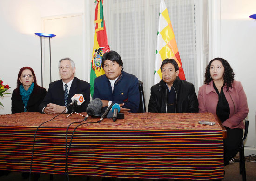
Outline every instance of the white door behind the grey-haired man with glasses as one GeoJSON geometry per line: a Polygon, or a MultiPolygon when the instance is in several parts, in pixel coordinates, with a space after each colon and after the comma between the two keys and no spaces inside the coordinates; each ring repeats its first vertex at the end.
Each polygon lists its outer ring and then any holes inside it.
{"type": "MultiPolygon", "coordinates": [[[[66,57],[74,61],[75,76],[83,80],[82,20],[82,14],[43,18],[44,33],[56,35],[50,40],[52,82],[61,79],[58,62],[66,57]]],[[[49,38],[43,38],[43,47],[43,87],[48,90],[50,83],[49,38]]]]}

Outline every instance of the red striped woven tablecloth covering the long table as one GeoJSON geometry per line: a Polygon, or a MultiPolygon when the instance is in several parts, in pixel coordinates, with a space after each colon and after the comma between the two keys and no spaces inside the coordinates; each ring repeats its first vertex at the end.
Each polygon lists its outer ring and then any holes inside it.
{"type": "MultiPolygon", "coordinates": [[[[86,115],[86,113],[84,113],[86,115]]],[[[61,114],[35,138],[33,172],[65,173],[67,126],[83,118],[61,114]]],[[[0,170],[29,171],[34,133],[54,115],[0,116],[0,170]]],[[[88,118],[95,122],[99,118],[88,118]]],[[[68,131],[68,143],[74,127],[68,131]]],[[[223,178],[222,128],[211,113],[127,113],[125,119],[84,124],[74,133],[68,173],[123,178],[223,178]],[[214,126],[198,121],[216,122],[214,126]]]]}

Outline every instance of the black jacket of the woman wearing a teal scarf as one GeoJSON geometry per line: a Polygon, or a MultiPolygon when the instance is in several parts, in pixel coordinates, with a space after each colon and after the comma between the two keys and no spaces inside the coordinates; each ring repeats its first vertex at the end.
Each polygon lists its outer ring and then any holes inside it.
{"type": "MultiPolygon", "coordinates": [[[[37,112],[40,103],[43,101],[46,95],[46,89],[35,85],[32,93],[30,94],[29,100],[27,102],[28,112],[37,112]]],[[[24,112],[24,105],[20,95],[20,88],[13,90],[12,94],[12,113],[24,112]]]]}

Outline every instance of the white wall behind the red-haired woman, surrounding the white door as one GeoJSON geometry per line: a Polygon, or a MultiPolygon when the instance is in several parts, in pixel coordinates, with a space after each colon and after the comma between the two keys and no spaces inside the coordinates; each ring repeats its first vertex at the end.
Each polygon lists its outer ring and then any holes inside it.
{"type": "MultiPolygon", "coordinates": [[[[90,11],[90,2],[88,1],[87,4],[85,2],[85,0],[0,1],[0,78],[11,87],[9,92],[16,88],[17,75],[21,67],[32,67],[38,84],[41,84],[40,38],[34,33],[44,32],[42,17],[74,13],[86,14],[85,10],[90,11]]],[[[85,21],[90,23],[88,20],[85,21]]],[[[88,31],[86,28],[84,30],[88,31]]],[[[83,38],[85,41],[85,37],[83,38]]],[[[84,50],[84,59],[90,57],[88,52],[91,51],[84,50]]],[[[88,81],[88,75],[85,74],[81,79],[88,81]]],[[[0,101],[4,105],[0,107],[0,114],[10,114],[11,94],[5,95],[4,98],[0,97],[0,101]]]]}

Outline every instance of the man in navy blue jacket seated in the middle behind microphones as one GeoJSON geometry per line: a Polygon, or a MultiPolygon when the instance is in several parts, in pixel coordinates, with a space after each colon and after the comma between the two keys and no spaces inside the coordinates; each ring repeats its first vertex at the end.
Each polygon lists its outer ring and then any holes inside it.
{"type": "Polygon", "coordinates": [[[115,51],[102,57],[105,75],[95,79],[93,99],[100,98],[103,107],[118,103],[121,111],[137,113],[140,103],[138,78],[123,71],[123,62],[115,51]]]}

